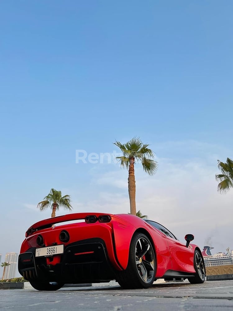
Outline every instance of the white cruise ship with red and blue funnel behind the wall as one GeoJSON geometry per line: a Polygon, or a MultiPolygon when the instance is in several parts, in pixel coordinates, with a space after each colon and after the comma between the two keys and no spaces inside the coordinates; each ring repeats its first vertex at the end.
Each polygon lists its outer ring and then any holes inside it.
{"type": "Polygon", "coordinates": [[[233,250],[230,247],[226,248],[226,253],[219,252],[214,255],[211,254],[211,249],[213,249],[211,246],[204,246],[203,248],[202,255],[206,267],[233,264],[233,250]]]}

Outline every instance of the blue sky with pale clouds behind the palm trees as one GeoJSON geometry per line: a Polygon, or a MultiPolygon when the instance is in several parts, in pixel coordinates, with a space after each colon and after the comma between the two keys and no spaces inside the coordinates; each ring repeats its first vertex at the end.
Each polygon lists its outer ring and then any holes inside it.
{"type": "Polygon", "coordinates": [[[153,177],[136,167],[137,209],[181,239],[192,224],[201,247],[215,234],[216,251],[233,248],[232,192],[217,194],[214,180],[217,159],[233,151],[232,9],[213,0],[1,4],[0,212],[3,232],[17,235],[0,242],[3,257],[50,216],[36,205],[51,188],[70,194],[75,212],[128,212],[127,172],[76,164],[75,150],[112,153],[134,136],[159,163],[153,177]]]}

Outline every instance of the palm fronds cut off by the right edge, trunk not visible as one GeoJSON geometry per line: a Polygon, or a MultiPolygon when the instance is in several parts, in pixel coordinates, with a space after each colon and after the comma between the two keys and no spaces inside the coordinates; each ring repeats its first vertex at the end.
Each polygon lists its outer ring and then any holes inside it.
{"type": "Polygon", "coordinates": [[[233,188],[233,160],[226,158],[226,163],[218,160],[218,168],[222,174],[216,174],[215,179],[220,181],[217,186],[217,191],[220,193],[227,193],[230,188],[233,188]]]}

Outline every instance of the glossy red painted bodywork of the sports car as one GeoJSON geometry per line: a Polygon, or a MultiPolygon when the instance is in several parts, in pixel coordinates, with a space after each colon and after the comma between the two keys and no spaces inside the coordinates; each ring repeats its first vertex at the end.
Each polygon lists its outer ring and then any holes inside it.
{"type": "MultiPolygon", "coordinates": [[[[38,235],[43,236],[43,247],[64,244],[66,248],[77,241],[98,238],[105,242],[107,257],[112,267],[121,271],[127,267],[130,242],[136,231],[146,234],[154,246],[157,261],[156,278],[164,276],[169,270],[195,272],[194,250],[197,248],[196,245],[190,244],[187,248],[185,247],[186,243],[169,238],[150,223],[131,214],[74,213],[41,220],[27,230],[20,254],[35,252],[35,248],[41,247],[37,244],[38,235]],[[99,221],[86,223],[83,221],[72,224],[59,224],[71,220],[85,220],[86,216],[96,216],[98,218],[101,215],[109,215],[111,221],[107,223],[100,223],[99,221]],[[68,231],[70,236],[69,241],[66,243],[62,243],[59,239],[62,230],[68,231]]],[[[75,255],[78,257],[82,254],[77,253],[75,255]]],[[[45,260],[48,266],[56,266],[62,262],[62,255],[45,257],[45,260]]],[[[20,273],[21,270],[19,269],[20,273]]]]}

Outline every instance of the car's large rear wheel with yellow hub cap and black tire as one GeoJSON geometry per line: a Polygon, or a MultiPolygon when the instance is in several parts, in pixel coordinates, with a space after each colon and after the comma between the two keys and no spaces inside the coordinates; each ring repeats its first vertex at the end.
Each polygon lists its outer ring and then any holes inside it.
{"type": "Polygon", "coordinates": [[[148,288],[155,280],[156,259],[145,234],[135,233],[130,243],[126,270],[118,272],[117,282],[125,289],[148,288]]]}

